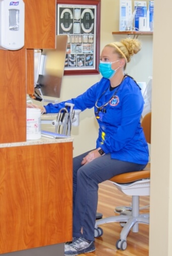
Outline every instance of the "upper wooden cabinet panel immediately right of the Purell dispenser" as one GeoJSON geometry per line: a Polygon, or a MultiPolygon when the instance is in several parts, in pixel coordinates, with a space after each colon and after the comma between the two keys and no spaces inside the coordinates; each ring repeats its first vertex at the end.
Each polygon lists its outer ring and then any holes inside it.
{"type": "Polygon", "coordinates": [[[27,49],[55,49],[56,0],[23,0],[27,49]]]}

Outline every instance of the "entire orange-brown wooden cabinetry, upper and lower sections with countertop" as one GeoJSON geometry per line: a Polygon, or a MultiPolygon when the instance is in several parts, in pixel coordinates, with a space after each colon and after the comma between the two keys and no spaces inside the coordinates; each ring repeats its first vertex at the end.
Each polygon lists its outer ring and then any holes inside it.
{"type": "Polygon", "coordinates": [[[0,50],[0,254],[28,255],[72,239],[72,142],[26,142],[33,49],[56,47],[57,3],[24,3],[24,48],[0,50]]]}

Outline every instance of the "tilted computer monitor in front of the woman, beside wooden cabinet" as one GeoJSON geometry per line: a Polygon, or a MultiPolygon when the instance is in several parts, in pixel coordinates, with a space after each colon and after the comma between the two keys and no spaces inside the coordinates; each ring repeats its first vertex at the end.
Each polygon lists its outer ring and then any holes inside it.
{"type": "MultiPolygon", "coordinates": [[[[64,75],[66,58],[67,35],[56,36],[56,49],[43,49],[40,53],[39,64],[37,65],[37,54],[35,51],[34,63],[38,69],[38,79],[35,83],[35,91],[40,95],[60,97],[61,86],[64,75]]],[[[36,73],[36,71],[34,70],[36,73]]]]}

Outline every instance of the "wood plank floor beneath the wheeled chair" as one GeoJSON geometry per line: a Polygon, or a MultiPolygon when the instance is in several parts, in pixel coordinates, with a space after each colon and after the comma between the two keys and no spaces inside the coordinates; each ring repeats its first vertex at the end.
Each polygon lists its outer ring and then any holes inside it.
{"type": "MultiPolygon", "coordinates": [[[[131,206],[131,197],[120,192],[111,182],[105,181],[99,186],[98,212],[103,217],[116,214],[116,206],[131,206]]],[[[149,197],[140,197],[140,207],[149,205],[149,197]]],[[[140,211],[148,213],[149,207],[140,211]]],[[[125,250],[116,249],[116,241],[120,238],[122,227],[119,223],[108,223],[100,226],[103,229],[102,237],[95,239],[96,251],[80,254],[87,256],[148,256],[149,255],[149,225],[139,224],[139,233],[132,231],[127,236],[127,247],[125,250]]]]}

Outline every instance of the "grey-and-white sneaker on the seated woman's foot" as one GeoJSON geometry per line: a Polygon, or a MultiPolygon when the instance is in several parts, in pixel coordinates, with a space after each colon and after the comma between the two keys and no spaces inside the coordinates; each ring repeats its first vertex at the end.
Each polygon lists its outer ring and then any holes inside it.
{"type": "Polygon", "coordinates": [[[65,247],[65,256],[75,256],[81,253],[87,253],[95,251],[94,241],[88,241],[83,237],[77,238],[74,242],[65,247]]]}

